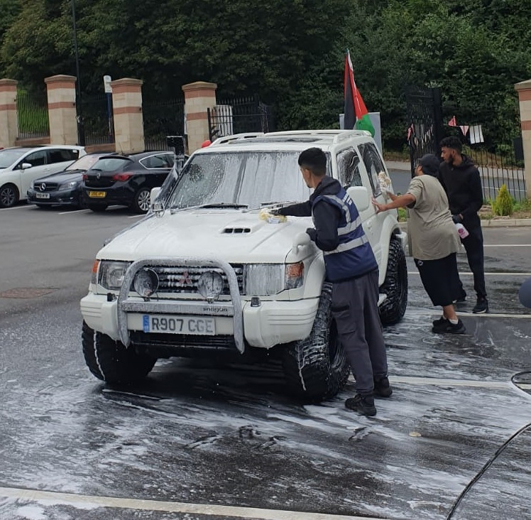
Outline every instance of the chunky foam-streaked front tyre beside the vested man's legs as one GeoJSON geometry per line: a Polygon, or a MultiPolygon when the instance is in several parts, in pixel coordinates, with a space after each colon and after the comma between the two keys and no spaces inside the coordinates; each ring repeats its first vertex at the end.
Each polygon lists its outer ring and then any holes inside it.
{"type": "Polygon", "coordinates": [[[332,319],[332,285],[324,283],[312,332],[291,343],[283,354],[290,393],[318,402],[335,396],[346,384],[350,366],[332,319]]]}

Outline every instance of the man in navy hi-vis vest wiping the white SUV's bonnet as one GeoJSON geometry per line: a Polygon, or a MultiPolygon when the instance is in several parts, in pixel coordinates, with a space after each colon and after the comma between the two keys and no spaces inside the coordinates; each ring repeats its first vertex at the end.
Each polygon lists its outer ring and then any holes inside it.
{"type": "Polygon", "coordinates": [[[281,207],[278,215],[313,218],[306,230],[323,251],[327,281],[332,282],[332,315],[356,379],[356,396],[345,406],[376,415],[374,396],[389,397],[387,354],[378,313],[378,264],[361,227],[358,210],[339,181],[326,175],[321,148],[300,153],[299,166],[314,193],[307,202],[281,207]]]}

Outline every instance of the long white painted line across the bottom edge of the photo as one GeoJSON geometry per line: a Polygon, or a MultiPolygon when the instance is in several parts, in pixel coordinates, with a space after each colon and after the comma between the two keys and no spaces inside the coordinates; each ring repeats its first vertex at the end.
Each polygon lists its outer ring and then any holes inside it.
{"type": "Polygon", "coordinates": [[[302,513],[256,507],[219,506],[215,504],[187,504],[185,502],[163,502],[158,500],[140,500],[117,497],[94,497],[84,494],[39,491],[0,487],[0,497],[34,502],[50,501],[60,504],[89,507],[116,507],[136,509],[138,511],[165,511],[170,513],[202,514],[205,516],[229,516],[234,518],[253,518],[256,520],[384,520],[376,516],[347,516],[344,514],[302,513]]]}

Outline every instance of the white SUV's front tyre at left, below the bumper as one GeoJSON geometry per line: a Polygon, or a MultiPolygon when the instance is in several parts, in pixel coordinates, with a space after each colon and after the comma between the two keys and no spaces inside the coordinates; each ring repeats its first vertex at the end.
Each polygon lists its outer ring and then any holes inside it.
{"type": "Polygon", "coordinates": [[[84,360],[98,379],[114,385],[128,385],[146,377],[157,361],[138,354],[102,332],[95,332],[83,322],[82,346],[84,360]]]}

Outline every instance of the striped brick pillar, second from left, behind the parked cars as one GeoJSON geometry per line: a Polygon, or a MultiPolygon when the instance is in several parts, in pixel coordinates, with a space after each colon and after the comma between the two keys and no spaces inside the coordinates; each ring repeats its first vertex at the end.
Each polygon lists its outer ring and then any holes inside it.
{"type": "Polygon", "coordinates": [[[48,94],[50,143],[78,144],[74,76],[59,74],[44,80],[48,94]]]}

